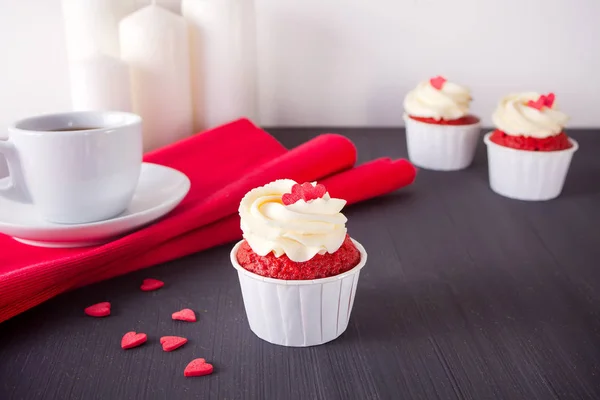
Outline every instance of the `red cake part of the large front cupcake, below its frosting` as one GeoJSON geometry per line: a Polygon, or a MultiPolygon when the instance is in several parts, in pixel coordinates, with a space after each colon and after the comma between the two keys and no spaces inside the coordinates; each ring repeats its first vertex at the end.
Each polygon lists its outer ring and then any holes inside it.
{"type": "Polygon", "coordinates": [[[306,262],[295,262],[285,254],[275,257],[256,254],[244,240],[237,252],[238,263],[246,270],[260,276],[283,280],[310,280],[328,278],[349,271],[360,262],[360,252],[346,235],[346,240],[333,254],[317,254],[306,262]]]}

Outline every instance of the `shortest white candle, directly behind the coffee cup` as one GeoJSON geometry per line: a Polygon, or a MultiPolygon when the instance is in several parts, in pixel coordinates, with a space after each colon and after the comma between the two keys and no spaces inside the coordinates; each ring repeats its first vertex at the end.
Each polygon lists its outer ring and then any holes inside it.
{"type": "Polygon", "coordinates": [[[104,55],[73,61],[71,99],[74,110],[131,111],[129,68],[104,55]]]}

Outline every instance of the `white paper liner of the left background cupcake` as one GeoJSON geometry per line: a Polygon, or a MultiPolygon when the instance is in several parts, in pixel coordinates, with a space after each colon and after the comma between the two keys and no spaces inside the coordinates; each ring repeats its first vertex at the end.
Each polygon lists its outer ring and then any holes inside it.
{"type": "Polygon", "coordinates": [[[473,162],[481,124],[436,125],[404,115],[408,158],[418,167],[456,171],[473,162]]]}

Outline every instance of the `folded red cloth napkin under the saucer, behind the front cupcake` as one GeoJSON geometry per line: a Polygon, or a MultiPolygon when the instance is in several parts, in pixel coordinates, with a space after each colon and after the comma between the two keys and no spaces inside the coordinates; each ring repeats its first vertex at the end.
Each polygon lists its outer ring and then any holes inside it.
{"type": "Polygon", "coordinates": [[[0,322],[64,291],[241,238],[240,199],[274,179],[326,178],[332,195],[353,203],[415,177],[404,160],[350,169],[355,160],[354,145],[343,136],[321,135],[288,151],[248,120],[150,153],[145,161],[176,168],[192,182],[184,201],[159,222],[86,249],[36,248],[0,235],[0,322]]]}

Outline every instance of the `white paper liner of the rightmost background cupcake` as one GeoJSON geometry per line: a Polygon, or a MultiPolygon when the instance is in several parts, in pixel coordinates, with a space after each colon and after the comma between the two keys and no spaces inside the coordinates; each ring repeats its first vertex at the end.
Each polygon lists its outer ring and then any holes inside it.
{"type": "Polygon", "coordinates": [[[517,200],[541,201],[558,197],[579,145],[571,138],[570,149],[559,151],[528,151],[483,141],[488,150],[490,187],[502,196],[517,200]]]}

